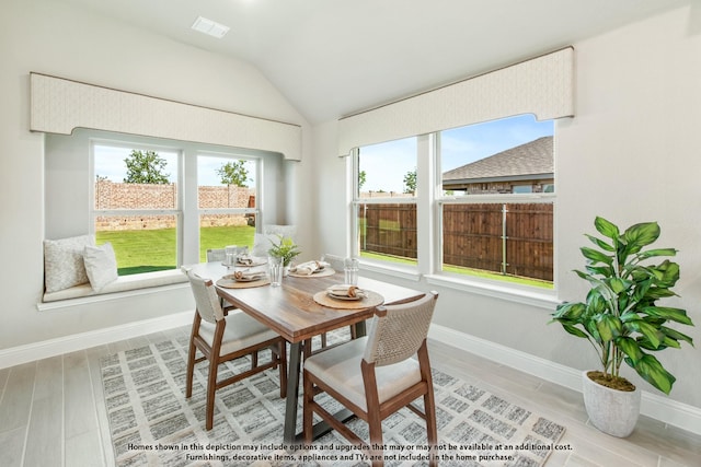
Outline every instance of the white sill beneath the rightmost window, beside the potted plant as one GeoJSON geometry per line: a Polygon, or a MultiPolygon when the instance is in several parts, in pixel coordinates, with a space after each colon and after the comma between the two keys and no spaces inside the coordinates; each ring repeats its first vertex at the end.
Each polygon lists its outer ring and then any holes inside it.
{"type": "Polygon", "coordinates": [[[426,282],[462,292],[475,293],[526,305],[554,311],[560,303],[554,290],[539,290],[518,285],[505,285],[494,281],[456,278],[446,275],[427,275],[426,282]]]}

